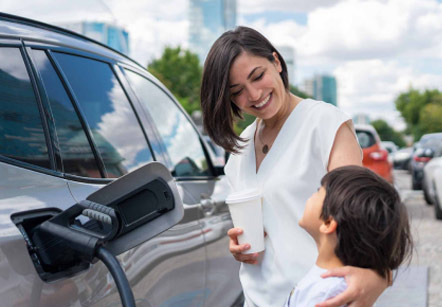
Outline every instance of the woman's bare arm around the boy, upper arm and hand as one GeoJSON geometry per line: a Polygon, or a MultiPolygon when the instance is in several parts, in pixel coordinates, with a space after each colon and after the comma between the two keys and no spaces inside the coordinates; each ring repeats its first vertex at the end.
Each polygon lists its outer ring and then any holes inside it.
{"type": "MultiPolygon", "coordinates": [[[[328,171],[344,165],[361,165],[361,149],[353,131],[347,124],[342,124],[336,133],[330,153],[328,171]]],[[[370,269],[345,266],[329,270],[322,277],[345,277],[347,290],[318,307],[337,307],[348,304],[352,307],[372,306],[379,295],[387,288],[388,282],[370,269]]]]}

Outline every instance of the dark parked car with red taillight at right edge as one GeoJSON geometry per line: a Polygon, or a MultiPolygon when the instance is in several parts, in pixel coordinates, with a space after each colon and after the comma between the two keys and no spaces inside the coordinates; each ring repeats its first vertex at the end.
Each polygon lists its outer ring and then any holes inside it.
{"type": "Polygon", "coordinates": [[[411,185],[413,190],[422,189],[424,166],[433,158],[435,151],[442,142],[442,133],[424,134],[415,144],[411,160],[411,185]]]}

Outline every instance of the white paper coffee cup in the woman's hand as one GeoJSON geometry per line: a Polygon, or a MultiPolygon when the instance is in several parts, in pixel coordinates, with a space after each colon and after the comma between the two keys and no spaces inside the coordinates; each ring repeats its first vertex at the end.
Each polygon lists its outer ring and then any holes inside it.
{"type": "Polygon", "coordinates": [[[264,227],[262,224],[262,194],[257,189],[248,189],[228,195],[233,225],[241,228],[239,244],[250,244],[243,254],[258,253],[264,250],[264,227]]]}

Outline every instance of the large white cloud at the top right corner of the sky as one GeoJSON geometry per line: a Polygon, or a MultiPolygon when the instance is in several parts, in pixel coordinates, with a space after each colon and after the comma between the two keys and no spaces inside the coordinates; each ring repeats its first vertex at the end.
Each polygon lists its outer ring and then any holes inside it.
{"type": "Polygon", "coordinates": [[[309,14],[300,53],[332,60],[416,55],[440,44],[441,20],[433,0],[348,0],[309,14]]]}

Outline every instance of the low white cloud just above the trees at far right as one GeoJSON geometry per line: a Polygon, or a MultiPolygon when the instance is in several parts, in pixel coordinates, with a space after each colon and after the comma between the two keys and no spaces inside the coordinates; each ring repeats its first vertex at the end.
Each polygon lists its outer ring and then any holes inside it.
{"type": "Polygon", "coordinates": [[[349,61],[335,69],[338,83],[338,101],[350,115],[366,113],[370,118],[382,118],[396,129],[405,128],[394,101],[400,92],[410,86],[417,89],[442,89],[442,76],[415,71],[401,66],[398,61],[349,61]]]}

